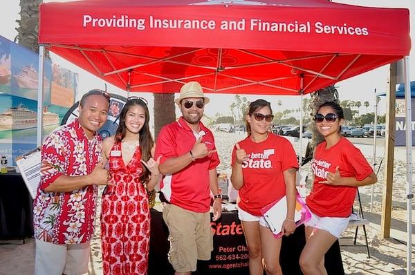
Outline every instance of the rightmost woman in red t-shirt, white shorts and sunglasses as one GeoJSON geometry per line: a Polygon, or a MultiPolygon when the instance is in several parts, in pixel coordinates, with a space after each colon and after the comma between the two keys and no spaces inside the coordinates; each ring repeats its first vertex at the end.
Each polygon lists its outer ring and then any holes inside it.
{"type": "Polygon", "coordinates": [[[322,104],[314,121],[324,142],[315,148],[311,162],[314,182],[306,204],[312,217],[305,223],[306,245],[299,258],[305,275],[327,274],[324,254],[349,223],[357,187],[378,180],[360,150],[340,135],[344,115],[339,104],[322,104]]]}

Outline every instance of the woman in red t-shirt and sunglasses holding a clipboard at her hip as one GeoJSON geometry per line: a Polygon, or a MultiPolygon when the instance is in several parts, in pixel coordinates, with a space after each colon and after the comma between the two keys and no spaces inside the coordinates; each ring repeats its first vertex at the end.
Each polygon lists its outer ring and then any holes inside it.
{"type": "Polygon", "coordinates": [[[252,102],[246,115],[248,137],[234,146],[231,181],[239,190],[238,216],[249,250],[250,274],[282,274],[279,265],[281,238],[274,238],[261,209],[286,195],[287,215],[282,234],[295,230],[295,172],[297,156],[291,143],[270,133],[271,105],[252,102]]]}

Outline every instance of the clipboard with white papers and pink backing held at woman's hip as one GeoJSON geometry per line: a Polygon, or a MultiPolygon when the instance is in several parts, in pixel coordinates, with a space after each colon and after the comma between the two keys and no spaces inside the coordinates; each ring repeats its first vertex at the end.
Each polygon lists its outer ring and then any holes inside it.
{"type": "MultiPolygon", "coordinates": [[[[284,196],[279,200],[270,202],[270,204],[261,209],[261,214],[264,216],[264,219],[274,237],[281,238],[282,223],[286,219],[287,215],[287,197],[284,196]]],[[[295,227],[299,227],[299,225],[302,225],[310,219],[310,209],[308,209],[304,200],[299,196],[299,193],[297,193],[294,213],[295,227]]]]}

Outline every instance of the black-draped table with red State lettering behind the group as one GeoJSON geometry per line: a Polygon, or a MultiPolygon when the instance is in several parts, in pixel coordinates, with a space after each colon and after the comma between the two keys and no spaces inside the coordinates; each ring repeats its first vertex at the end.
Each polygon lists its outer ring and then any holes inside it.
{"type": "MultiPolygon", "coordinates": [[[[221,220],[212,222],[212,231],[215,233],[212,258],[199,261],[194,274],[249,274],[248,248],[237,212],[224,212],[221,220]]],[[[151,209],[150,232],[149,275],[174,274],[172,265],[167,260],[167,225],[162,213],[155,209],[151,209]]],[[[291,236],[283,237],[279,262],[284,274],[302,274],[298,259],[304,244],[304,226],[297,227],[291,236]]],[[[344,274],[338,241],[326,253],[325,266],[328,274],[344,274]]]]}

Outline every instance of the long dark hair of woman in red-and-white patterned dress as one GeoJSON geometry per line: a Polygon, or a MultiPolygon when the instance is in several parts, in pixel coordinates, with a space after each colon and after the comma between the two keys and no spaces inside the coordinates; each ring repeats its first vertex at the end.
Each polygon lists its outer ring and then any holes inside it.
{"type": "MultiPolygon", "coordinates": [[[[127,127],[125,126],[125,115],[127,115],[127,112],[131,108],[131,106],[138,105],[141,106],[145,111],[145,124],[142,126],[142,129],[140,130],[140,150],[141,150],[141,159],[147,162],[151,158],[151,149],[153,149],[154,146],[154,139],[150,132],[149,127],[149,108],[147,107],[147,104],[139,98],[129,99],[127,100],[127,103],[125,103],[124,108],[122,108],[122,111],[120,113],[119,122],[117,133],[116,133],[116,142],[121,142],[125,138],[125,133],[127,132],[127,127]]],[[[140,180],[142,182],[147,182],[149,180],[150,171],[145,167],[145,165],[142,165],[142,176],[140,177],[140,180]]]]}

